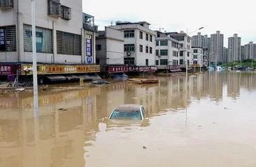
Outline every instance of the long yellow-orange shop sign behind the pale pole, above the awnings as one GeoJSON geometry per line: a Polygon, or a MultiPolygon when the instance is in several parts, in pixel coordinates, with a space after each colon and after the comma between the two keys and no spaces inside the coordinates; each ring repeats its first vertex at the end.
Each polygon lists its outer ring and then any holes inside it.
{"type": "MultiPolygon", "coordinates": [[[[22,75],[33,74],[33,65],[22,64],[22,75]]],[[[75,74],[100,72],[99,65],[37,65],[38,74],[75,74]]]]}

